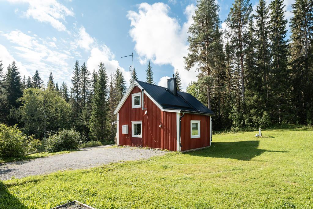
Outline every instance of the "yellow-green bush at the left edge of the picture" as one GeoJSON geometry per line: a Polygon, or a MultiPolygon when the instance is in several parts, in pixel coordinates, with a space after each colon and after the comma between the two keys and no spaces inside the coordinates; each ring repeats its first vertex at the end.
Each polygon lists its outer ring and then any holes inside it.
{"type": "Polygon", "coordinates": [[[0,124],[0,159],[22,157],[27,152],[37,151],[38,139],[23,134],[16,125],[0,124]]]}

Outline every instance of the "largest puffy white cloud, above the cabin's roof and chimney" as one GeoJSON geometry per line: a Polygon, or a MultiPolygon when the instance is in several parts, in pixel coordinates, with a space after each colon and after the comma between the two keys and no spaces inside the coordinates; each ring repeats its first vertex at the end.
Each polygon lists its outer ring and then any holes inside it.
{"type": "MultiPolygon", "coordinates": [[[[135,44],[135,50],[140,56],[141,64],[151,60],[154,64],[170,64],[172,74],[176,69],[182,78],[182,88],[190,81],[197,80],[194,70],[184,69],[184,59],[188,53],[188,28],[192,24],[193,4],[188,5],[184,14],[187,22],[179,24],[176,18],[169,16],[170,7],[164,3],[141,3],[139,11],[129,11],[127,17],[131,20],[129,31],[135,44]]],[[[164,77],[163,77],[164,79],[164,77]]],[[[160,80],[161,82],[161,80],[160,80]]]]}

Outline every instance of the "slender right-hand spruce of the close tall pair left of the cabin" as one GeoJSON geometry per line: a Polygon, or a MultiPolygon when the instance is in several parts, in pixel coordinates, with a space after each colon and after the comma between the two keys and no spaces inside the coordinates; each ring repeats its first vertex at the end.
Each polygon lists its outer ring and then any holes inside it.
{"type": "Polygon", "coordinates": [[[87,69],[87,66],[85,62],[80,68],[80,97],[82,100],[82,107],[85,108],[86,102],[89,95],[89,87],[90,87],[90,81],[89,81],[90,72],[87,69]]]}

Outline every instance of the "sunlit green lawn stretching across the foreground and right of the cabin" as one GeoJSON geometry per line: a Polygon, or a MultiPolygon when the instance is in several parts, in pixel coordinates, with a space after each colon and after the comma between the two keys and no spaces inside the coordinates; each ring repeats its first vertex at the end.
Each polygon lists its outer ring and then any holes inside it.
{"type": "Polygon", "coordinates": [[[4,181],[0,208],[72,200],[98,209],[312,208],[313,131],[256,133],[216,134],[201,151],[4,181]]]}

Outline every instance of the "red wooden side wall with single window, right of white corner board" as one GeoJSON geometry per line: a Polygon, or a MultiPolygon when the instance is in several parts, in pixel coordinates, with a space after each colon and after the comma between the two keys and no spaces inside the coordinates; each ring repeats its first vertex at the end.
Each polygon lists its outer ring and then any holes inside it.
{"type": "Polygon", "coordinates": [[[210,116],[185,113],[181,129],[181,151],[210,146],[210,116]],[[200,138],[190,138],[190,120],[200,121],[200,138]]]}

